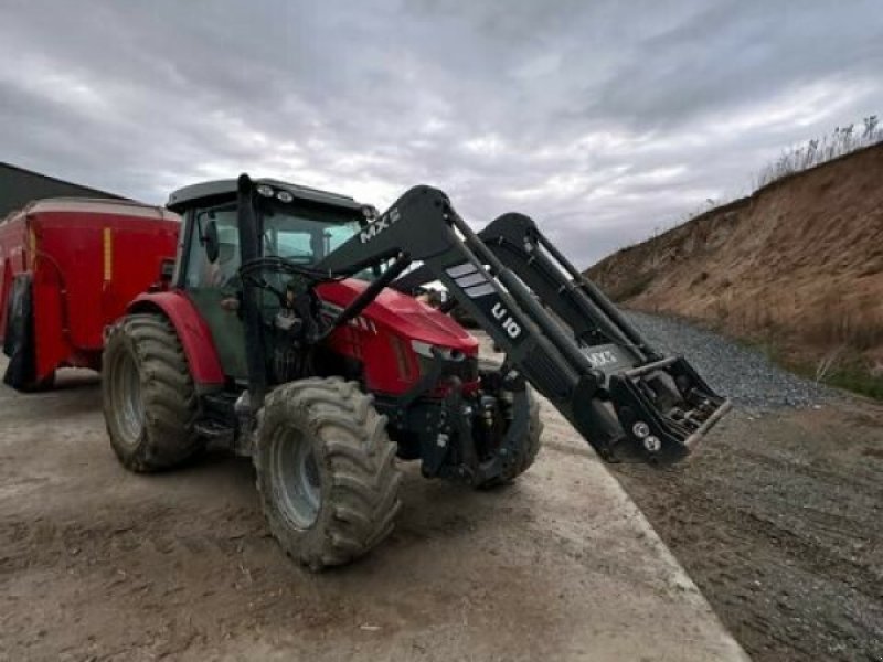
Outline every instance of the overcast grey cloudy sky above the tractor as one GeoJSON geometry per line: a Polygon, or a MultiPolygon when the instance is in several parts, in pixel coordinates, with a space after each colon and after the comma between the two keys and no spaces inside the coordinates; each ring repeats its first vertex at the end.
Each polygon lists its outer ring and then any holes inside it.
{"type": "Polygon", "coordinates": [[[877,1],[0,0],[0,161],[519,211],[578,266],[883,115],[877,1]]]}

